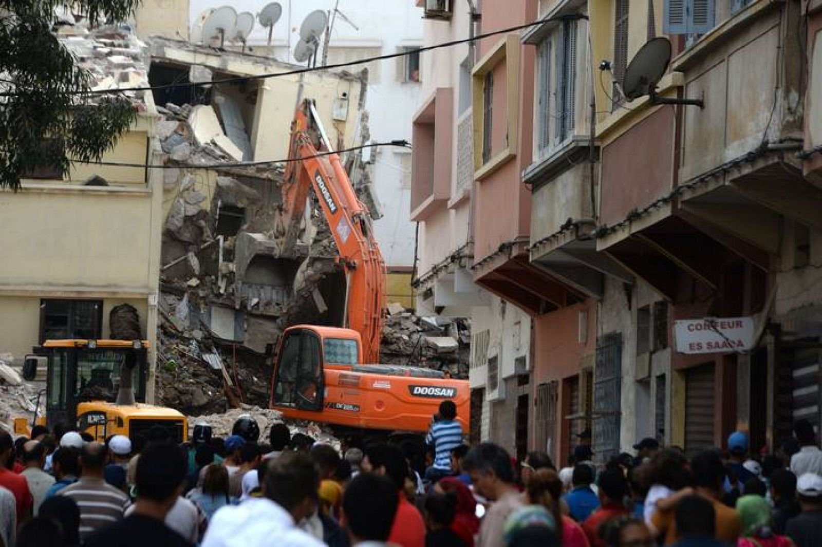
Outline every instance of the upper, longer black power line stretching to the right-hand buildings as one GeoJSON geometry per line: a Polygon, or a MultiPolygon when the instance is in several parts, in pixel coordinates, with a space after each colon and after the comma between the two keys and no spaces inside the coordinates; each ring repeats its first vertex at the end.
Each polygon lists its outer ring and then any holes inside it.
{"type": "MultiPolygon", "coordinates": [[[[508,34],[510,32],[514,32],[516,30],[524,30],[529,29],[533,26],[544,25],[547,22],[551,21],[566,21],[566,20],[580,20],[580,19],[588,19],[588,16],[584,16],[581,14],[572,14],[567,16],[558,16],[558,17],[549,17],[546,19],[540,19],[539,21],[532,21],[530,23],[525,23],[524,25],[516,25],[510,26],[506,29],[501,30],[494,30],[492,32],[487,32],[484,34],[477,34],[476,36],[472,36],[470,38],[459,39],[459,40],[451,40],[450,42],[442,42],[441,44],[432,44],[430,46],[423,46],[422,48],[414,48],[414,49],[407,49],[405,51],[397,52],[397,53],[386,53],[385,55],[379,55],[377,57],[364,57],[362,59],[354,59],[353,61],[347,62],[338,62],[332,65],[326,65],[325,67],[304,67],[304,68],[296,68],[291,71],[284,71],[284,72],[277,72],[277,73],[268,73],[268,74],[257,74],[251,76],[235,76],[233,78],[224,78],[222,80],[213,80],[207,82],[191,82],[191,83],[171,83],[171,84],[163,84],[163,85],[136,85],[132,87],[122,87],[116,90],[72,90],[66,91],[65,94],[70,95],[96,95],[96,94],[117,94],[117,93],[124,93],[126,91],[152,91],[152,90],[169,90],[178,87],[192,87],[197,85],[219,85],[219,84],[232,84],[236,82],[247,82],[252,80],[266,80],[268,78],[279,78],[282,76],[294,76],[298,74],[305,74],[307,72],[314,72],[314,71],[327,71],[335,68],[345,68],[345,67],[353,67],[354,65],[365,64],[367,62],[373,61],[384,61],[386,59],[395,59],[397,57],[405,57],[412,54],[417,53],[424,53],[427,51],[432,51],[434,49],[440,48],[450,48],[455,45],[459,44],[468,44],[471,42],[475,42],[481,39],[490,38],[492,36],[497,36],[499,34],[508,34]]],[[[21,95],[21,93],[17,92],[9,92],[9,93],[0,93],[0,97],[16,97],[21,95]]]]}

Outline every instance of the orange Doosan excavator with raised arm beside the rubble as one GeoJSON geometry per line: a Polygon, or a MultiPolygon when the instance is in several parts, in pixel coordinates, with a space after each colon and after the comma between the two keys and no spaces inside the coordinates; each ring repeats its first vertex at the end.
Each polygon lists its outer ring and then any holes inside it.
{"type": "Polygon", "coordinates": [[[367,207],[330,145],[312,100],[291,128],[284,177],[284,238],[296,239],[309,191],[314,191],[334,237],[345,274],[344,328],[299,324],[285,329],[275,353],[270,407],[284,416],[350,429],[425,431],[442,401],[454,401],[468,431],[466,380],[438,370],[378,365],[386,267],[367,207]]]}

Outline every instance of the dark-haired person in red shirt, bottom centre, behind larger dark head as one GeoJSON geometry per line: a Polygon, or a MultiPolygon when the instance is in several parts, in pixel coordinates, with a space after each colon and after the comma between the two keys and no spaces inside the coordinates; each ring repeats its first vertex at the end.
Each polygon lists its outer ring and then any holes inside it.
{"type": "Polygon", "coordinates": [[[363,464],[363,471],[374,471],[378,475],[387,476],[397,489],[399,503],[388,543],[401,547],[425,547],[423,515],[405,497],[405,480],[409,479],[409,466],[402,451],[389,444],[376,444],[366,449],[363,464]]]}

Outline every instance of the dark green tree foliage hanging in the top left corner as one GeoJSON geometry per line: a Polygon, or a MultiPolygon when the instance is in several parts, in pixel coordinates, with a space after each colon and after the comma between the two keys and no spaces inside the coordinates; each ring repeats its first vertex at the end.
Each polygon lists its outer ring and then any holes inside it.
{"type": "MultiPolygon", "coordinates": [[[[65,175],[72,160],[98,161],[136,117],[125,97],[78,93],[90,77],[51,29],[63,3],[0,0],[0,188],[19,189],[38,167],[65,175]]],[[[71,3],[91,21],[122,21],[139,0],[71,3]]]]}

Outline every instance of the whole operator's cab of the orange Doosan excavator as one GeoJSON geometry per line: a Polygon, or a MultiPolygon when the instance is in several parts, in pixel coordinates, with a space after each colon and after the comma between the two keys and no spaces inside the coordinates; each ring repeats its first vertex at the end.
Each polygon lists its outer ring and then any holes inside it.
{"type": "Polygon", "coordinates": [[[357,365],[359,334],[350,329],[298,325],[279,343],[272,378],[271,406],[321,411],[326,365],[357,365]]]}

